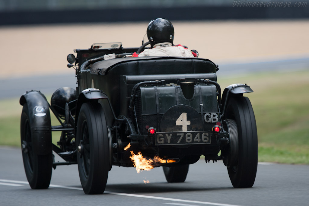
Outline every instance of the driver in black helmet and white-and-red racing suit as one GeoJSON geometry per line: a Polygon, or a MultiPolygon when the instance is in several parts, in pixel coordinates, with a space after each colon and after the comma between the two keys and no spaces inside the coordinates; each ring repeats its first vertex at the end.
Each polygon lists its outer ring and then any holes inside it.
{"type": "Polygon", "coordinates": [[[147,27],[147,37],[150,42],[150,49],[145,49],[140,54],[133,53],[132,57],[148,56],[172,56],[172,57],[196,57],[197,55],[188,48],[173,45],[174,27],[165,18],[153,19],[147,27]]]}

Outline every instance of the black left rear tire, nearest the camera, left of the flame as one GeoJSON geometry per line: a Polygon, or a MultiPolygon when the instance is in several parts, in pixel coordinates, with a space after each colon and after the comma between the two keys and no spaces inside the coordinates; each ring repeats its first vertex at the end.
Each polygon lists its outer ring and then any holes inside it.
{"type": "Polygon", "coordinates": [[[99,103],[84,103],[77,132],[79,179],[85,194],[102,194],[110,168],[110,145],[104,111],[99,103]]]}

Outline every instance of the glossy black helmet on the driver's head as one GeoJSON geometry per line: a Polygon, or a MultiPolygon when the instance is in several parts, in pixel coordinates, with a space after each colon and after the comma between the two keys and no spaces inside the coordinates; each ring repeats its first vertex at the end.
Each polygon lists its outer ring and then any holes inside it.
{"type": "Polygon", "coordinates": [[[162,42],[170,42],[173,44],[173,24],[165,18],[153,19],[148,24],[147,37],[150,42],[151,48],[153,48],[155,44],[162,42]]]}

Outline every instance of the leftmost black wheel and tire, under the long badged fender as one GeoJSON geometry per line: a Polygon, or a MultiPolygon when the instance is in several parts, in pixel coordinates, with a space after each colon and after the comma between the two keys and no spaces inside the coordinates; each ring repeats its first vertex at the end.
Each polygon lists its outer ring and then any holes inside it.
{"type": "Polygon", "coordinates": [[[28,105],[23,105],[20,118],[20,139],[22,145],[23,166],[32,189],[46,189],[52,177],[53,153],[37,155],[32,148],[31,121],[28,105]]]}

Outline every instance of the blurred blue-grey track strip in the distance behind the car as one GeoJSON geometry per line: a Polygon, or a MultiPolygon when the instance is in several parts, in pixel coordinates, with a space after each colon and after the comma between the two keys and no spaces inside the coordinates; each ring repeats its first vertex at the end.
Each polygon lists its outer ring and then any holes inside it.
{"type": "MultiPolygon", "coordinates": [[[[292,72],[296,70],[309,69],[309,58],[287,59],[280,61],[261,61],[243,64],[219,64],[217,73],[220,78],[233,78],[257,72],[292,72]]],[[[29,90],[40,90],[45,95],[51,95],[60,87],[76,87],[75,71],[67,68],[70,73],[53,75],[33,75],[23,78],[1,79],[0,77],[0,99],[20,97],[29,90]]]]}

